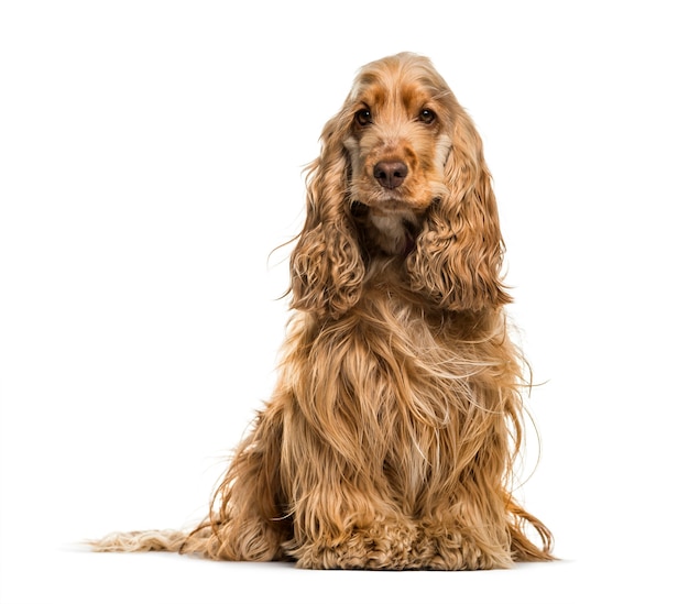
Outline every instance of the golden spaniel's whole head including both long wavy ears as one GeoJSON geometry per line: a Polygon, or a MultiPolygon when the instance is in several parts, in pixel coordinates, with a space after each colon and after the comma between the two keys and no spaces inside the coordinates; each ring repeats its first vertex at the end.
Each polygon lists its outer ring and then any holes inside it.
{"type": "Polygon", "coordinates": [[[502,252],[481,138],[445,80],[409,53],[364,66],[309,167],[294,308],[340,317],[383,266],[437,308],[499,306],[502,252]]]}

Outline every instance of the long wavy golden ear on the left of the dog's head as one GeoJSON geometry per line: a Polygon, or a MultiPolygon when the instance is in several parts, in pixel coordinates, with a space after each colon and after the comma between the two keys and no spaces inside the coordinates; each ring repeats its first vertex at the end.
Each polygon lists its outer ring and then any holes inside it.
{"type": "Polygon", "coordinates": [[[324,129],[320,156],[307,176],[306,222],[289,264],[292,306],[318,317],[347,312],[359,300],[364,276],[348,199],[348,128],[336,116],[324,129]]]}

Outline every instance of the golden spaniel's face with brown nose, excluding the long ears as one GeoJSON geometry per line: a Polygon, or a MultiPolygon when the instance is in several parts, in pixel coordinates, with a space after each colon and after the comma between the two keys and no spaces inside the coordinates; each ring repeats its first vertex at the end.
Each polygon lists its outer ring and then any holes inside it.
{"type": "Polygon", "coordinates": [[[417,224],[447,194],[453,102],[437,73],[418,61],[376,62],[360,73],[348,102],[349,193],[382,230],[417,224]]]}

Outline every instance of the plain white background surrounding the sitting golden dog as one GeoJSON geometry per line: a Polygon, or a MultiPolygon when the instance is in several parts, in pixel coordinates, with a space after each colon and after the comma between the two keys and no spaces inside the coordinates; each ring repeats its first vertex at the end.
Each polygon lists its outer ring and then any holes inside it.
{"type": "Polygon", "coordinates": [[[2,2],[0,601],[686,602],[681,4],[2,2]],[[76,549],[205,514],[271,393],[287,251],[269,254],[300,228],[300,169],[356,69],[403,50],[484,139],[544,383],[523,496],[564,561],[308,572],[76,549]]]}

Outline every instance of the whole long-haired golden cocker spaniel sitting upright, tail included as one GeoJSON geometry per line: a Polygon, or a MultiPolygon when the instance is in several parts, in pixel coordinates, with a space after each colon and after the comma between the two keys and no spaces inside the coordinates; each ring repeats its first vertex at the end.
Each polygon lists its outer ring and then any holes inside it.
{"type": "Polygon", "coordinates": [[[208,517],[95,547],[309,569],[551,559],[511,492],[528,380],[502,257],[481,139],[445,80],[408,53],[365,65],[308,171],[275,393],[208,517]]]}

